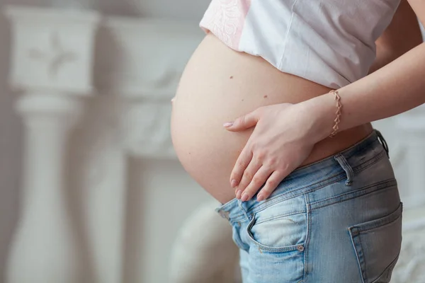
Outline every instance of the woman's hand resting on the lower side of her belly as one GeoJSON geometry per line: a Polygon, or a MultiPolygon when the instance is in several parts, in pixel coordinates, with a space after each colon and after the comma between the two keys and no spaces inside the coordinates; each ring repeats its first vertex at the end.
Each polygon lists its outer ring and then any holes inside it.
{"type": "Polygon", "coordinates": [[[317,134],[319,113],[311,104],[264,106],[225,123],[232,132],[255,127],[230,175],[238,199],[250,200],[264,185],[257,200],[265,200],[310,155],[322,139],[317,134]]]}

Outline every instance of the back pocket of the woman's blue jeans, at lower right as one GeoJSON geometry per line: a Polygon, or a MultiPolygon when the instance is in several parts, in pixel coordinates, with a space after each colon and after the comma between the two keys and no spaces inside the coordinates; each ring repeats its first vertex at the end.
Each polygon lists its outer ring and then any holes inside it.
{"type": "Polygon", "coordinates": [[[402,245],[402,204],[392,214],[352,226],[348,230],[362,282],[390,282],[392,268],[402,245]],[[385,275],[385,280],[382,275],[385,275]]]}

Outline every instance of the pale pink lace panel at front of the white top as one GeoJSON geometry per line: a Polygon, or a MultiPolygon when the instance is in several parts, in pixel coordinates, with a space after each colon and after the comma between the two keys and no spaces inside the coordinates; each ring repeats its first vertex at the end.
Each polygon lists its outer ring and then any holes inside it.
{"type": "Polygon", "coordinates": [[[212,0],[200,26],[238,50],[251,0],[212,0]]]}

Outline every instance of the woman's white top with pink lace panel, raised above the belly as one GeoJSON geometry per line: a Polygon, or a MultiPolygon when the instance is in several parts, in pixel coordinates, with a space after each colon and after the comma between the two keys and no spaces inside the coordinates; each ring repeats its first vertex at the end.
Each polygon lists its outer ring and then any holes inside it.
{"type": "Polygon", "coordinates": [[[200,27],[329,88],[368,74],[400,0],[212,0],[200,27]]]}

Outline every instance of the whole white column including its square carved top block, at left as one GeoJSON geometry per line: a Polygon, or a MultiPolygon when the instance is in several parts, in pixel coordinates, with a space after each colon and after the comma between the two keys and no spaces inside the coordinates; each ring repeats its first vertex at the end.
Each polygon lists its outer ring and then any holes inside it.
{"type": "Polygon", "coordinates": [[[6,8],[12,22],[11,85],[23,94],[26,126],[21,219],[6,267],[8,283],[84,282],[65,165],[70,129],[92,92],[93,12],[6,8]]]}

